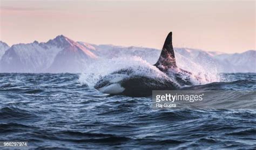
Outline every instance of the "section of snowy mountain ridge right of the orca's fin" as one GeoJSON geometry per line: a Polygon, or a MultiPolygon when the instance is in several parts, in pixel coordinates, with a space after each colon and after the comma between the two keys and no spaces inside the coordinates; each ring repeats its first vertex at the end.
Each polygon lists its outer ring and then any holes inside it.
{"type": "Polygon", "coordinates": [[[178,65],[183,69],[199,68],[215,69],[218,72],[256,72],[256,51],[227,54],[222,52],[206,52],[196,49],[176,48],[178,65]],[[184,63],[185,62],[185,63],[184,63]],[[188,65],[186,62],[190,62],[188,65]]]}

